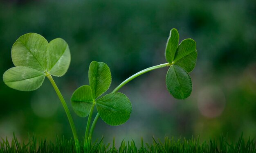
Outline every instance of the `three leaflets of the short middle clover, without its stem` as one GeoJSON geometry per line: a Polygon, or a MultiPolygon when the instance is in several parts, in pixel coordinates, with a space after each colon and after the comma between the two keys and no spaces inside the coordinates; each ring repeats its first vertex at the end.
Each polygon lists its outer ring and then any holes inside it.
{"type": "Polygon", "coordinates": [[[129,98],[120,92],[99,98],[111,84],[111,73],[106,63],[92,61],[89,67],[89,83],[90,86],[79,87],[71,97],[75,113],[86,117],[96,105],[104,122],[112,126],[124,124],[130,118],[132,111],[129,98]]]}

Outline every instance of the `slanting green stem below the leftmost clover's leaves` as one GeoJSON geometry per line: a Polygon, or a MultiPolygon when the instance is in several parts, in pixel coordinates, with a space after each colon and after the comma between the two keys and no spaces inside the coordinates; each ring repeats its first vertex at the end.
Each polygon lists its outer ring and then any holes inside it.
{"type": "Polygon", "coordinates": [[[58,98],[61,100],[61,103],[65,109],[65,112],[67,114],[67,118],[68,118],[68,121],[70,122],[70,127],[72,129],[72,133],[73,133],[73,136],[74,136],[74,141],[76,142],[76,147],[77,147],[77,142],[78,142],[78,138],[77,138],[77,134],[76,134],[76,127],[74,125],[74,121],[73,121],[73,118],[70,114],[70,110],[68,109],[67,107],[67,103],[65,102],[60,90],[58,89],[56,83],[54,82],[54,80],[52,79],[52,76],[48,73],[48,72],[45,72],[46,74],[46,77],[49,79],[49,81],[52,83],[52,86],[54,88],[54,90],[56,91],[56,94],[58,95],[58,98]]]}

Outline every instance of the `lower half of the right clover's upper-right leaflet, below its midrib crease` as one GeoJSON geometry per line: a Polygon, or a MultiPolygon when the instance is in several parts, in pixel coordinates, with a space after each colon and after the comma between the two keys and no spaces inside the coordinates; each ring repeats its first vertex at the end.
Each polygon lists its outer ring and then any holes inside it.
{"type": "Polygon", "coordinates": [[[182,67],[186,72],[191,72],[195,68],[196,59],[198,57],[197,50],[194,50],[189,55],[182,57],[175,62],[175,65],[182,67]]]}

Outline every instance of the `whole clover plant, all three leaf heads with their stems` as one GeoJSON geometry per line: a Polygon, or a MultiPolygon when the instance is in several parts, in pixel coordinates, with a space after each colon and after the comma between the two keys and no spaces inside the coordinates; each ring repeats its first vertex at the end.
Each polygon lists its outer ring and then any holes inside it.
{"type": "MultiPolygon", "coordinates": [[[[52,76],[61,77],[67,72],[71,58],[67,43],[61,38],[53,39],[48,43],[39,34],[27,33],[13,44],[11,57],[15,67],[4,72],[4,83],[16,90],[33,91],[38,89],[47,77],[65,109],[78,151],[79,141],[72,116],[52,78],[52,76]]],[[[189,72],[195,68],[197,59],[195,41],[184,39],[179,44],[179,33],[173,28],[166,43],[165,57],[167,63],[137,72],[117,86],[110,94],[104,96],[101,95],[109,89],[112,81],[110,69],[103,62],[92,61],[90,63],[89,85],[79,87],[71,97],[74,112],[80,117],[88,116],[85,147],[90,145],[92,133],[99,117],[112,126],[124,124],[130,118],[131,102],[125,94],[118,90],[141,74],[158,68],[170,67],[166,74],[167,90],[177,99],[185,99],[191,94],[192,82],[189,72]],[[95,106],[98,113],[91,125],[95,106]]]]}

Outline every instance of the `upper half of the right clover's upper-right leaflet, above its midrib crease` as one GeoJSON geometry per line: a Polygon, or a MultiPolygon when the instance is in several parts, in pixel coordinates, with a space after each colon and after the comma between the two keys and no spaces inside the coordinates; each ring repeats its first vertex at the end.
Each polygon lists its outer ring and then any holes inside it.
{"type": "Polygon", "coordinates": [[[189,55],[191,52],[195,51],[196,44],[193,39],[184,39],[177,48],[175,54],[174,62],[180,60],[182,57],[189,55]]]}

